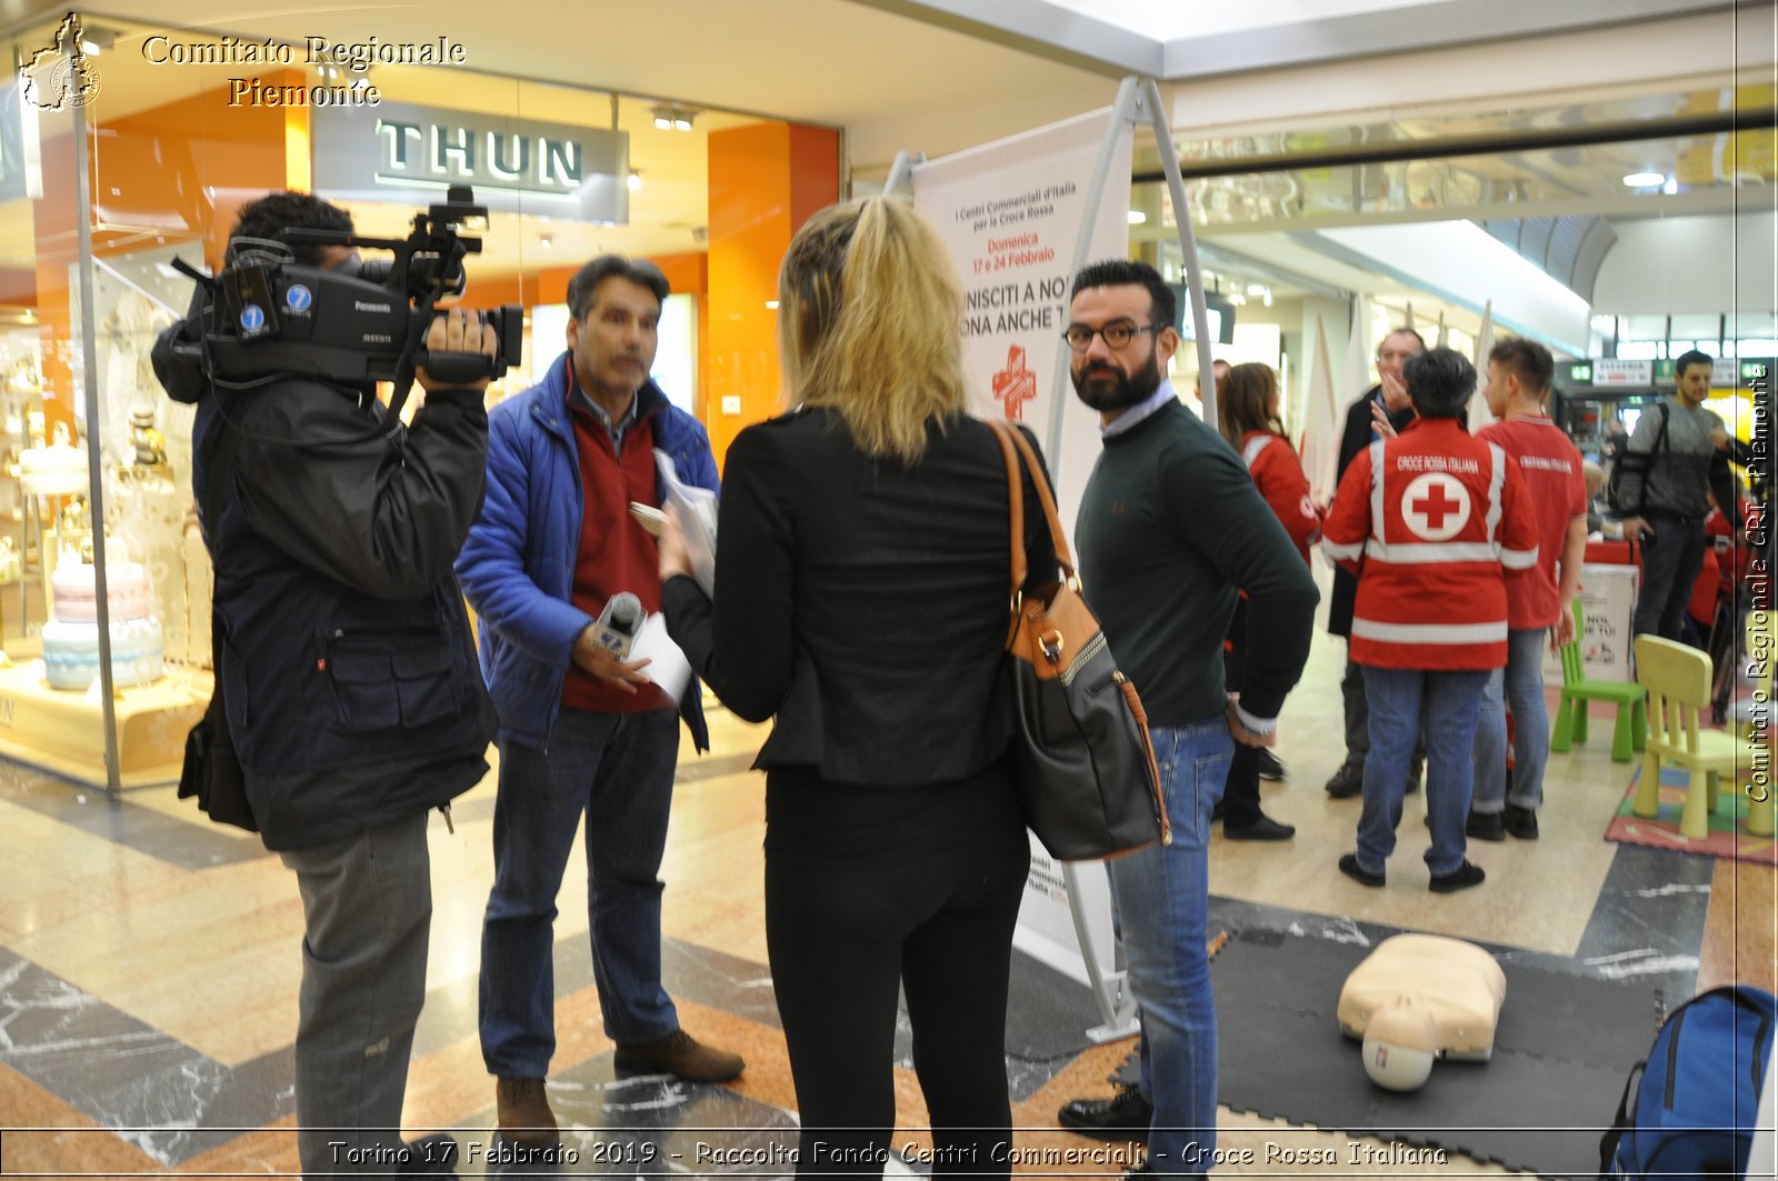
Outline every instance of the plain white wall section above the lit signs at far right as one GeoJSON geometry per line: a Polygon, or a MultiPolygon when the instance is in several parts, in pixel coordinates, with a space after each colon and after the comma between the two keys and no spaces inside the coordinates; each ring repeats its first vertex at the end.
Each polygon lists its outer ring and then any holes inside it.
{"type": "Polygon", "coordinates": [[[1773,311],[1778,213],[1771,190],[1750,187],[1767,208],[1718,217],[1618,221],[1593,286],[1593,309],[1636,315],[1773,311]]]}

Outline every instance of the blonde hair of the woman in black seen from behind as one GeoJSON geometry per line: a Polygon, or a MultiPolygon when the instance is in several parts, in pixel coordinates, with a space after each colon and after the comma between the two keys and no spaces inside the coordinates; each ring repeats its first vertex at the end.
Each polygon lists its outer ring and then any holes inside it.
{"type": "Polygon", "coordinates": [[[926,423],[969,404],[964,290],[944,242],[894,197],[830,205],[779,270],[789,400],[832,407],[866,455],[914,462],[926,423]]]}

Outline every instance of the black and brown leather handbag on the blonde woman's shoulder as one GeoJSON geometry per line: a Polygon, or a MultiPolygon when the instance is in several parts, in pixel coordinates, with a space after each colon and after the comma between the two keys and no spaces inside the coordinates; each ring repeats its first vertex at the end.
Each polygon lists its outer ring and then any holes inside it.
{"type": "Polygon", "coordinates": [[[990,422],[1006,459],[1012,503],[1012,626],[1006,660],[1017,708],[1013,763],[1026,825],[1058,861],[1099,861],[1173,843],[1141,697],[1099,631],[1056,500],[1024,434],[990,422]],[[1015,450],[1017,448],[1017,450],[1015,450]],[[1049,521],[1058,582],[1024,594],[1021,455],[1049,521]]]}

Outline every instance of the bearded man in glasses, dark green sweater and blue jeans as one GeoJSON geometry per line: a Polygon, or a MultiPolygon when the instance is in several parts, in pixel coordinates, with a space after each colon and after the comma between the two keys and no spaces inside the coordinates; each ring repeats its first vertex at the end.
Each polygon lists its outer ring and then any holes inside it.
{"type": "Polygon", "coordinates": [[[1145,263],[1074,277],[1074,390],[1099,411],[1104,452],[1074,535],[1086,599],[1141,690],[1172,841],[1109,863],[1129,987],[1141,1016],[1141,1087],[1061,1108],[1063,1126],[1149,1138],[1136,1176],[1198,1176],[1216,1149],[1216,1008],[1205,923],[1211,809],[1234,743],[1271,745],[1309,660],[1319,594],[1241,457],[1165,379],[1177,301],[1145,263]],[[1223,637],[1246,592],[1241,694],[1223,692],[1223,637]]]}

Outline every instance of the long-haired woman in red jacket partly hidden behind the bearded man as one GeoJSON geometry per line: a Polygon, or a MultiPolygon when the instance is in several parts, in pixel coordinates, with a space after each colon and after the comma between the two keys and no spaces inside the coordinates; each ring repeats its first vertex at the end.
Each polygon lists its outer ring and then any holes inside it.
{"type": "MultiPolygon", "coordinates": [[[[1291,441],[1284,438],[1278,420],[1278,375],[1269,365],[1236,365],[1216,382],[1216,407],[1221,418],[1221,436],[1241,454],[1248,475],[1296,542],[1303,562],[1309,546],[1321,537],[1321,512],[1309,494],[1309,477],[1296,457],[1291,441]]],[[[1223,646],[1227,683],[1230,694],[1241,692],[1241,671],[1246,653],[1246,598],[1236,601],[1229,621],[1229,642],[1223,646]]],[[[1284,841],[1296,834],[1294,825],[1278,823],[1259,809],[1259,779],[1264,747],[1236,743],[1229,765],[1229,786],[1223,790],[1223,836],[1230,841],[1284,841]]],[[[1282,777],[1282,765],[1277,763],[1282,777]]]]}

